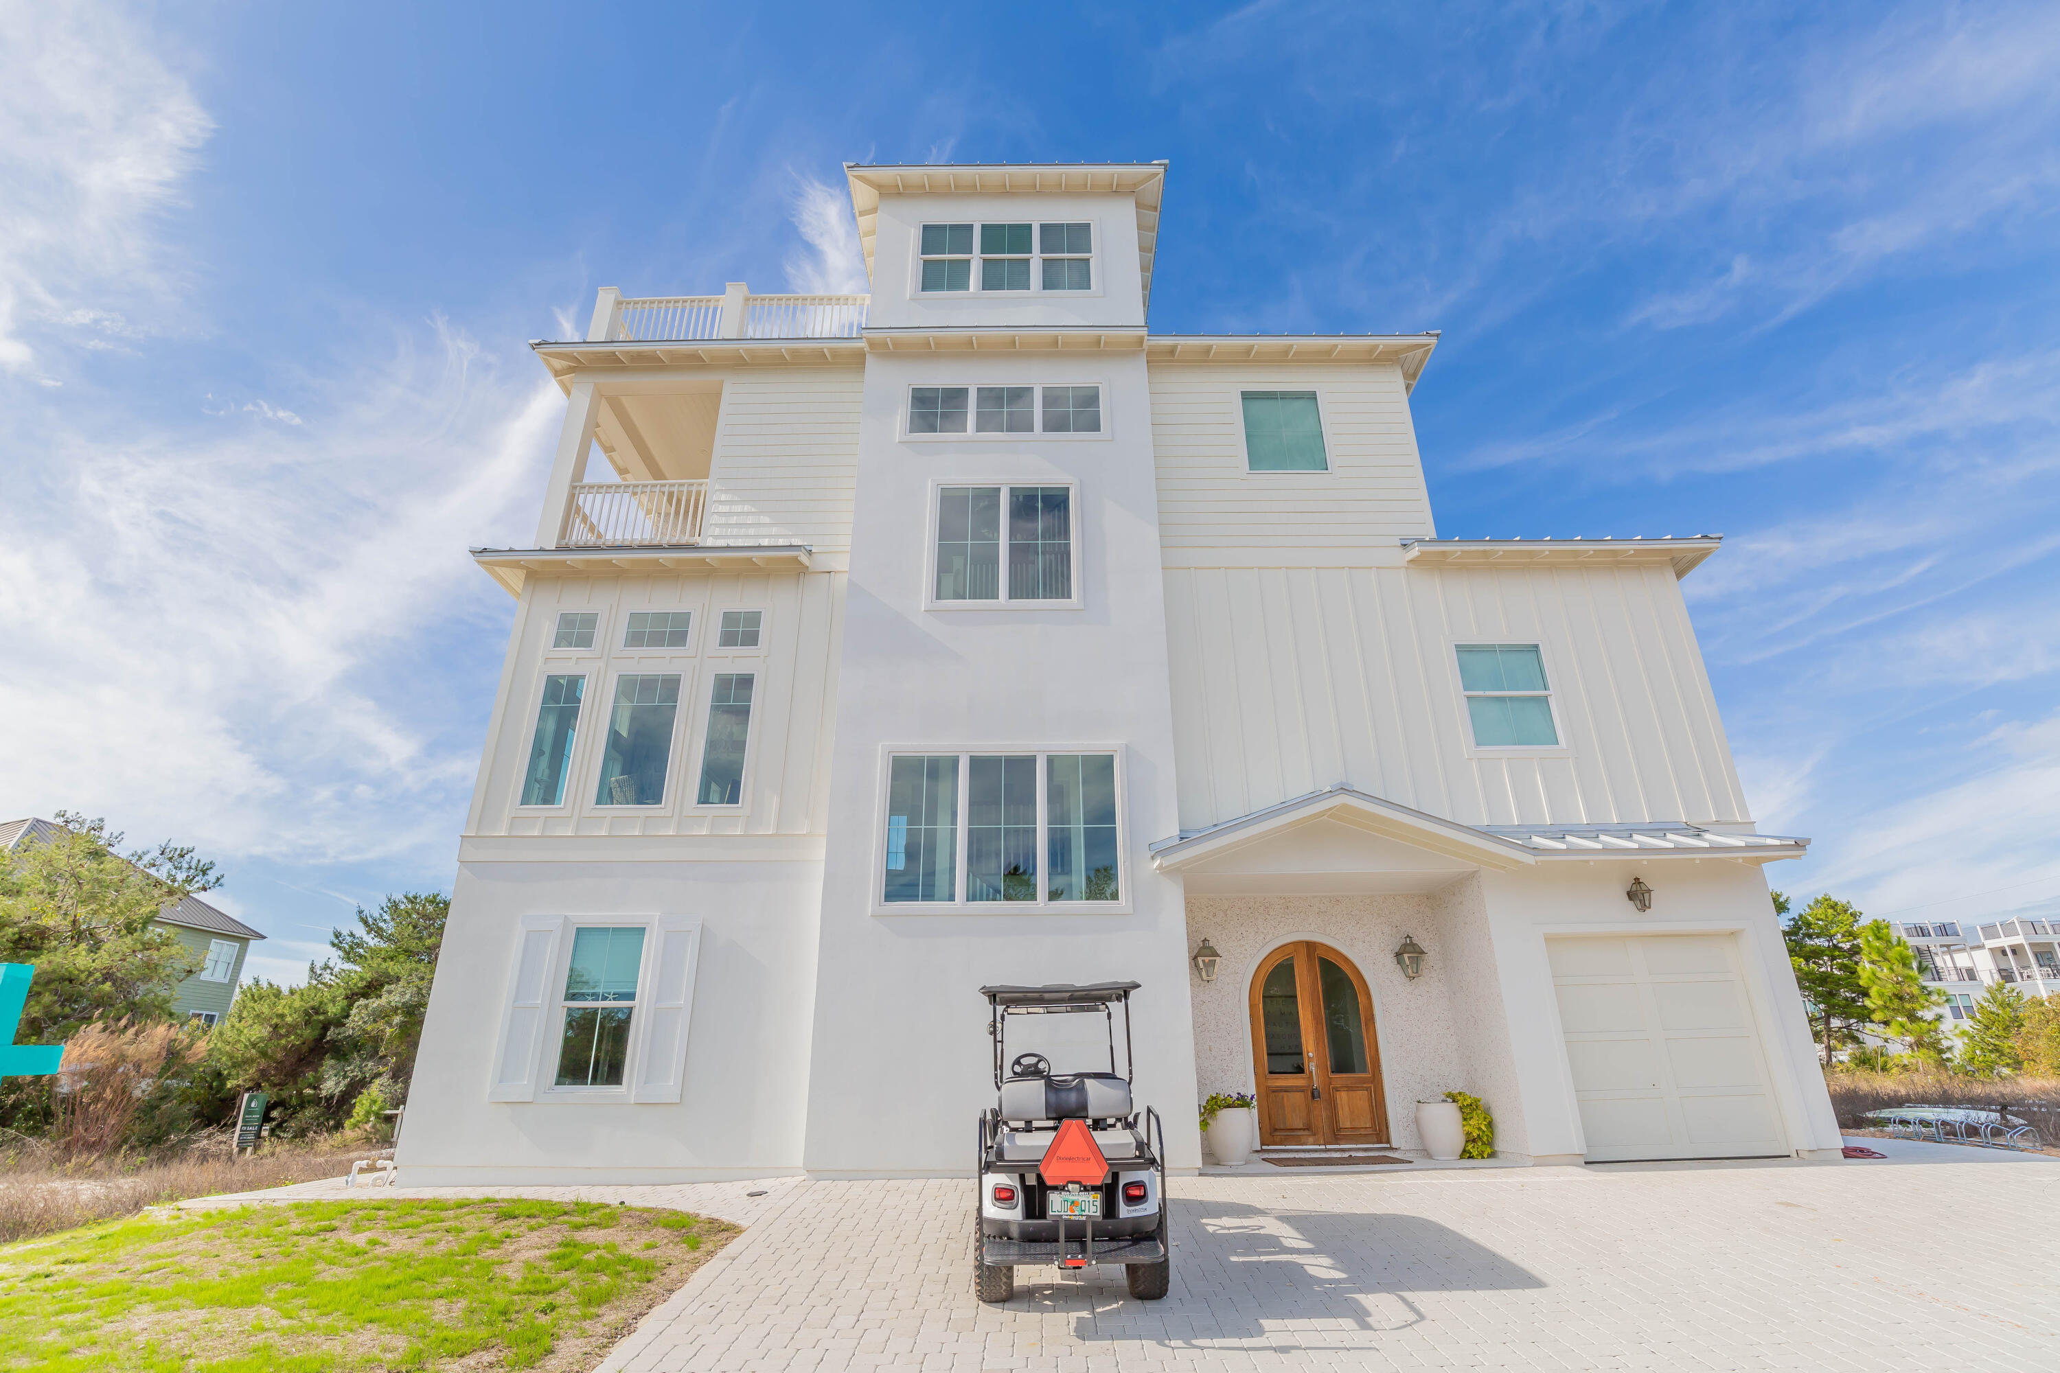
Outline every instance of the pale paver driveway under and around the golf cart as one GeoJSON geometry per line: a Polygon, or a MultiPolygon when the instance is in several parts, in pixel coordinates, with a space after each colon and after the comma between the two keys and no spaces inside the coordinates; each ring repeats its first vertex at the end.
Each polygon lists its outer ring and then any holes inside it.
{"type": "Polygon", "coordinates": [[[970,1182],[793,1184],[602,1367],[2060,1369],[2060,1163],[1889,1149],[1174,1180],[1156,1303],[1024,1268],[983,1307],[970,1182]]]}

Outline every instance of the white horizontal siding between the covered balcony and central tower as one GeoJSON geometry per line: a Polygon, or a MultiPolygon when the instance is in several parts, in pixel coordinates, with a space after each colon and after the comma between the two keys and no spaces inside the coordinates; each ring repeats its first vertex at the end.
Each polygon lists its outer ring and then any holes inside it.
{"type": "Polygon", "coordinates": [[[863,387],[855,366],[727,377],[709,461],[707,539],[847,552],[863,387]]]}

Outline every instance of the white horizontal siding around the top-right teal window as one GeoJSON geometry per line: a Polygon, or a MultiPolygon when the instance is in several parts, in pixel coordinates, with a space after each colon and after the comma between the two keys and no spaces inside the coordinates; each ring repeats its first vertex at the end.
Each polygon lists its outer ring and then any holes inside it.
{"type": "Polygon", "coordinates": [[[1428,539],[1430,492],[1397,366],[1154,362],[1166,566],[1364,562],[1428,539]],[[1242,391],[1314,391],[1329,471],[1246,471],[1242,391]]]}

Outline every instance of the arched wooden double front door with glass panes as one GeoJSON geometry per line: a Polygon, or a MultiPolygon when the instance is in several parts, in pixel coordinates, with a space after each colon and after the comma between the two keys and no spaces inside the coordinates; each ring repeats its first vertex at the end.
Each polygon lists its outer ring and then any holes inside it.
{"type": "Polygon", "coordinates": [[[1386,1145],[1366,978],[1331,945],[1281,945],[1252,976],[1261,1145],[1386,1145]]]}

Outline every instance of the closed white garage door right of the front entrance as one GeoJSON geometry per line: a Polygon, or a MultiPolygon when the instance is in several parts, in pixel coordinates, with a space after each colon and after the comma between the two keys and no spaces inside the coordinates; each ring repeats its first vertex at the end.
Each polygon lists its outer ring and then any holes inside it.
{"type": "Polygon", "coordinates": [[[1545,947],[1590,1161],[1788,1153],[1735,937],[1545,947]]]}

